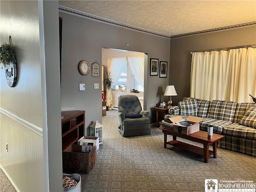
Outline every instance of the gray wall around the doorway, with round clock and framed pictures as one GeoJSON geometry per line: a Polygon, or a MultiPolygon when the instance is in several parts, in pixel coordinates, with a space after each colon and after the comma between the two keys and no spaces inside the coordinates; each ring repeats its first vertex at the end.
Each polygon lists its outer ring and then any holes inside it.
{"type": "MultiPolygon", "coordinates": [[[[170,39],[161,38],[125,28],[96,22],[86,18],[59,12],[63,18],[62,32],[62,110],[85,110],[86,127],[94,120],[102,122],[101,89],[94,90],[94,83],[101,83],[101,78],[91,74],[82,76],[77,70],[80,60],[102,63],[102,48],[116,48],[148,53],[150,58],[167,61],[170,57],[170,39]],[[126,46],[126,43],[129,46],[126,46]],[[85,83],[85,91],[78,91],[77,84],[85,83]]],[[[169,70],[169,67],[168,67],[169,70]]],[[[155,122],[155,112],[152,108],[168,97],[159,96],[158,89],[166,88],[168,78],[149,76],[147,89],[147,110],[150,111],[151,122],[155,122]]],[[[144,101],[145,102],[145,101],[144,101]]]]}

